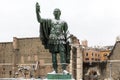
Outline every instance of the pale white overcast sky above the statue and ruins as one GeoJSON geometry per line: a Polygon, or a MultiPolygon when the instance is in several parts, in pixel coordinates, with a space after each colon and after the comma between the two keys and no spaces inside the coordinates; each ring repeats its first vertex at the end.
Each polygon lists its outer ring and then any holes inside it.
{"type": "Polygon", "coordinates": [[[53,10],[60,8],[70,33],[89,46],[114,45],[120,34],[120,0],[1,0],[0,42],[39,36],[36,2],[42,18],[54,18],[53,10]]]}

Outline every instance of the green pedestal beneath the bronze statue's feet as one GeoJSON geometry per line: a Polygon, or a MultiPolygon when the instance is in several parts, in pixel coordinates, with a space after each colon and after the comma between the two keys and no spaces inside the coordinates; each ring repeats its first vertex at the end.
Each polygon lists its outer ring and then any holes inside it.
{"type": "Polygon", "coordinates": [[[71,74],[62,74],[62,73],[57,73],[57,74],[47,74],[47,80],[73,80],[71,74]]]}

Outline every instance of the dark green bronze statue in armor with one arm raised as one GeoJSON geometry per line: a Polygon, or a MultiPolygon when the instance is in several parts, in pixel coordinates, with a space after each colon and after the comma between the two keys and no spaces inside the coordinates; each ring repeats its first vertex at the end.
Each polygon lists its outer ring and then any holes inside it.
{"type": "Polygon", "coordinates": [[[37,20],[40,23],[40,39],[45,48],[52,53],[52,63],[54,71],[57,73],[57,53],[60,54],[60,61],[63,73],[66,71],[66,63],[70,63],[70,45],[67,41],[68,26],[60,19],[61,11],[56,8],[53,12],[54,19],[42,19],[40,16],[40,6],[36,3],[37,20]]]}

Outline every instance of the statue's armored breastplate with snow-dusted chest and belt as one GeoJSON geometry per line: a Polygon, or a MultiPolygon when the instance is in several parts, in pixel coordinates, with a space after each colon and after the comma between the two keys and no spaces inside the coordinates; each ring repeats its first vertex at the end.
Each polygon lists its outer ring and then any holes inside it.
{"type": "Polygon", "coordinates": [[[64,22],[60,20],[52,20],[49,36],[49,44],[65,44],[64,22]]]}

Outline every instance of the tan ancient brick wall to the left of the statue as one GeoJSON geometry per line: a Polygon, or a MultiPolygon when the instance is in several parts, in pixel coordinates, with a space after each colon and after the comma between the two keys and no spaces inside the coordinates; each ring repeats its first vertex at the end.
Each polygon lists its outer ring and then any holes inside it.
{"type": "MultiPolygon", "coordinates": [[[[13,42],[0,43],[0,77],[22,76],[18,66],[30,66],[31,68],[39,62],[39,69],[30,71],[33,76],[44,76],[52,71],[51,54],[42,45],[39,38],[13,38],[13,42]]],[[[27,77],[30,77],[27,72],[27,77]]]]}

